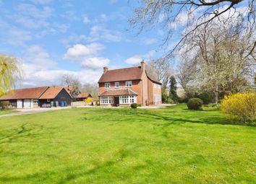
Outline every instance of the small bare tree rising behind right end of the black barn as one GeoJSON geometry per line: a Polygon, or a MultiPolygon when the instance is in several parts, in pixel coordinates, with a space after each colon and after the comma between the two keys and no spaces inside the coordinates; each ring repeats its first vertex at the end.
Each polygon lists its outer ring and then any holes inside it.
{"type": "Polygon", "coordinates": [[[62,76],[62,84],[67,87],[72,87],[71,96],[73,98],[77,97],[81,92],[82,84],[74,75],[64,74],[62,76]]]}

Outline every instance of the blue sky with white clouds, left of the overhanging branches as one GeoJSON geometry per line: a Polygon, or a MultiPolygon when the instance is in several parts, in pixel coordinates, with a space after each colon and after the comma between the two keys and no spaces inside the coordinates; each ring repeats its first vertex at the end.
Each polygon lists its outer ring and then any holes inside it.
{"type": "Polygon", "coordinates": [[[98,82],[103,66],[135,66],[163,54],[163,30],[137,35],[128,20],[132,2],[121,0],[0,0],[0,53],[19,58],[17,88],[61,84],[72,74],[98,82]]]}

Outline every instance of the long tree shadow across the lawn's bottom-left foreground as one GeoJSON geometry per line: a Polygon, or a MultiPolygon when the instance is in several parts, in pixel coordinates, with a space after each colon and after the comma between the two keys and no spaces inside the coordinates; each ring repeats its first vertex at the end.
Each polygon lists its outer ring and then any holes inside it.
{"type": "MultiPolygon", "coordinates": [[[[78,180],[79,178],[85,178],[89,175],[93,175],[97,172],[103,172],[108,173],[109,170],[111,170],[111,167],[114,167],[114,165],[118,164],[119,162],[122,162],[123,159],[129,156],[129,146],[131,144],[127,144],[123,146],[121,149],[119,149],[118,152],[116,152],[116,157],[106,160],[105,162],[98,162],[95,163],[95,167],[91,169],[85,169],[86,165],[76,165],[72,167],[65,167],[63,170],[56,170],[56,168],[53,168],[53,170],[48,170],[45,172],[36,172],[34,174],[29,175],[20,175],[20,176],[0,176],[0,180],[4,183],[9,182],[24,182],[27,181],[27,183],[40,183],[42,181],[48,181],[52,183],[58,183],[58,184],[64,184],[64,183],[72,183],[72,181],[76,182],[75,180],[78,180]],[[118,158],[118,159],[116,159],[118,158]],[[61,175],[60,175],[61,174],[61,175]],[[59,179],[57,179],[59,178],[59,179]],[[57,182],[56,182],[57,180],[57,182]]],[[[133,145],[136,146],[136,145],[133,145]]],[[[132,152],[132,151],[131,151],[132,152]]],[[[136,165],[135,167],[127,167],[127,175],[129,175],[129,170],[142,170],[144,168],[148,167],[148,162],[145,162],[145,164],[136,165]]],[[[113,177],[113,173],[111,173],[111,177],[113,177]]],[[[119,177],[119,173],[116,173],[116,177],[119,177]]],[[[111,178],[114,179],[114,178],[111,178]]]]}

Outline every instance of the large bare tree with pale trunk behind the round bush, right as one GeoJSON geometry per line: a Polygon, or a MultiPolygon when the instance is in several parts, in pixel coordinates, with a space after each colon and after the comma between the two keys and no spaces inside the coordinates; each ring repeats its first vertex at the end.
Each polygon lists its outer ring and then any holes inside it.
{"type": "Polygon", "coordinates": [[[243,19],[241,14],[219,17],[190,35],[182,46],[182,55],[189,56],[187,66],[195,71],[190,84],[214,92],[215,102],[220,93],[246,89],[247,78],[254,73],[255,30],[244,31],[243,19]]]}

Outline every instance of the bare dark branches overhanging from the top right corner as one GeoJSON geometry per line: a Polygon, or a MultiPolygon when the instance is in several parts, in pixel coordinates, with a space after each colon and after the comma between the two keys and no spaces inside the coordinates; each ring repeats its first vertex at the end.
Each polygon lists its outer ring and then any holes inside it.
{"type": "MultiPolygon", "coordinates": [[[[243,14],[247,18],[243,22],[243,31],[252,31],[255,30],[255,0],[139,0],[139,5],[133,9],[135,14],[129,19],[129,22],[132,28],[138,28],[138,34],[142,30],[161,25],[166,30],[163,44],[168,43],[178,25],[182,26],[185,34],[167,53],[167,56],[170,57],[191,34],[195,34],[202,27],[210,27],[223,14],[226,19],[229,19],[232,17],[230,12],[236,11],[241,4],[245,3],[243,14]]],[[[255,39],[252,44],[256,45],[255,39]]]]}

